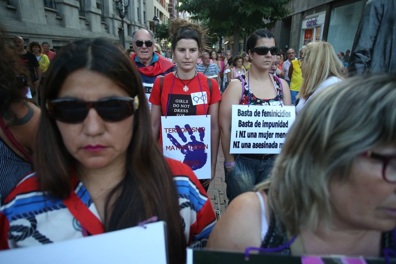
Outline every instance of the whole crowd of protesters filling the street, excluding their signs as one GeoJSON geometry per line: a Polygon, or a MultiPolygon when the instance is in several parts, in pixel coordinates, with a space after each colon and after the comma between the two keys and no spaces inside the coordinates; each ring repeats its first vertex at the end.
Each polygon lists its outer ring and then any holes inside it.
{"type": "Polygon", "coordinates": [[[48,42],[25,50],[20,36],[10,49],[2,34],[0,249],[156,216],[167,223],[170,263],[185,263],[186,247],[367,257],[396,250],[396,78],[347,78],[349,50],[337,55],[312,42],[299,57],[292,48],[284,54],[267,29],[232,57],[208,49],[207,31],[173,20],[173,63],[143,28],[128,51],[95,39],[56,55],[48,42]],[[142,83],[152,84],[151,110],[142,83]],[[173,102],[194,93],[204,99],[184,115],[210,115],[205,180],[162,153],[161,118],[177,116],[173,102]],[[280,154],[230,153],[238,104],[296,106],[280,154]],[[229,206],[217,221],[206,192],[219,144],[229,206]]]}

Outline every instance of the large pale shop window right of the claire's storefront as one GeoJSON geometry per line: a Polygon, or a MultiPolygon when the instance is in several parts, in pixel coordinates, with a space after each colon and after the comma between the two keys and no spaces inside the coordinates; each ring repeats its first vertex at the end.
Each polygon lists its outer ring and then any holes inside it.
{"type": "Polygon", "coordinates": [[[360,17],[367,0],[331,9],[327,42],[334,47],[335,53],[352,49],[360,17]]]}

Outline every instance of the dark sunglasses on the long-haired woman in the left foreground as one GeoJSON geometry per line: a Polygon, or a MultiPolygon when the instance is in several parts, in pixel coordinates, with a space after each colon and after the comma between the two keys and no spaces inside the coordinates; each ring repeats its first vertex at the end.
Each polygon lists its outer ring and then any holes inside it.
{"type": "Polygon", "coordinates": [[[87,102],[74,98],[61,98],[47,101],[46,108],[51,118],[64,123],[80,123],[85,120],[89,109],[108,122],[117,122],[133,115],[139,108],[139,99],[131,97],[107,97],[99,101],[87,102]]]}

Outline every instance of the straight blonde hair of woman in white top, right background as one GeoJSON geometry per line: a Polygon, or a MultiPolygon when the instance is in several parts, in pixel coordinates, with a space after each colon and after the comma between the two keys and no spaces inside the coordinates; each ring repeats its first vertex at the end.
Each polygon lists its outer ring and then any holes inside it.
{"type": "Polygon", "coordinates": [[[311,42],[304,50],[304,79],[297,98],[307,99],[329,77],[344,80],[344,66],[328,42],[311,42]]]}

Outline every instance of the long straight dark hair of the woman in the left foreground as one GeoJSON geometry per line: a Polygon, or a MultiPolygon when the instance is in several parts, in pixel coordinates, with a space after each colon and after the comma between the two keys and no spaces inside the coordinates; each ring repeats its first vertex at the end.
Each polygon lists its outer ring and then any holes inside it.
{"type": "MultiPolygon", "coordinates": [[[[110,192],[105,206],[105,231],[136,226],[154,215],[167,223],[170,263],[185,262],[186,239],[173,175],[152,137],[147,100],[141,78],[131,59],[110,41],[80,40],[61,49],[46,74],[43,102],[55,99],[61,85],[75,70],[86,68],[110,78],[129,93],[138,95],[140,106],[133,119],[133,136],[127,149],[126,174],[110,192]],[[110,199],[114,197],[114,203],[110,199]]],[[[72,192],[70,172],[74,159],[66,150],[55,120],[46,108],[38,127],[35,158],[43,191],[65,199],[72,192]]],[[[130,237],[128,239],[135,239],[130,237]]]]}

